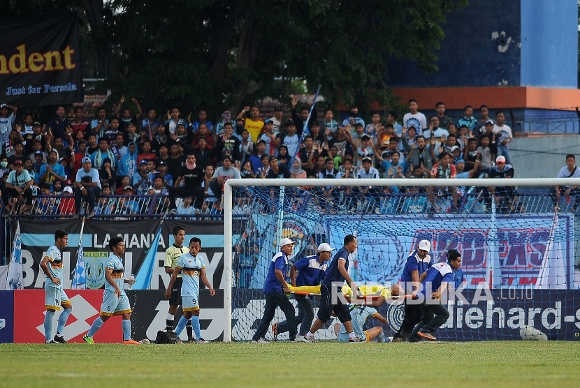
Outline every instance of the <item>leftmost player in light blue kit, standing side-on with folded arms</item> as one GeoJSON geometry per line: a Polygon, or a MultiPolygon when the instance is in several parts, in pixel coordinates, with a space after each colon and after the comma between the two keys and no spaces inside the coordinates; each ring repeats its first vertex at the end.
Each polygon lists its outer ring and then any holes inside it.
{"type": "Polygon", "coordinates": [[[41,269],[46,275],[44,283],[46,315],[44,317],[44,336],[46,343],[66,343],[62,336],[64,325],[68,320],[68,315],[73,311],[73,305],[68,300],[66,292],[62,287],[62,253],[61,251],[68,245],[68,233],[65,230],[55,232],[55,245],[50,246],[41,260],[41,269]],[[59,325],[57,335],[52,338],[52,318],[55,317],[55,311],[63,311],[59,315],[59,325]]]}

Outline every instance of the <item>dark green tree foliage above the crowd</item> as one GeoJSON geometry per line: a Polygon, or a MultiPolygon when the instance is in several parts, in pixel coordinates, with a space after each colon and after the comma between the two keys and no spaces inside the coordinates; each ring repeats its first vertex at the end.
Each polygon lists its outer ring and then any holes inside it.
{"type": "MultiPolygon", "coordinates": [[[[393,58],[436,70],[441,24],[466,0],[21,0],[12,13],[78,9],[115,100],[217,112],[293,80],[328,103],[393,102],[393,58]]],[[[4,6],[5,8],[7,6],[4,6]]]]}

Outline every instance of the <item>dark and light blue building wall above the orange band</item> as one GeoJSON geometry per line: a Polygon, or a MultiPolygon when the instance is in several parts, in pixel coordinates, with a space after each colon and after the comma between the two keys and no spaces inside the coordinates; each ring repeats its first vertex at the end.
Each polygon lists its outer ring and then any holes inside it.
{"type": "Polygon", "coordinates": [[[575,0],[470,0],[447,16],[439,71],[393,59],[393,87],[577,87],[575,0]]]}

